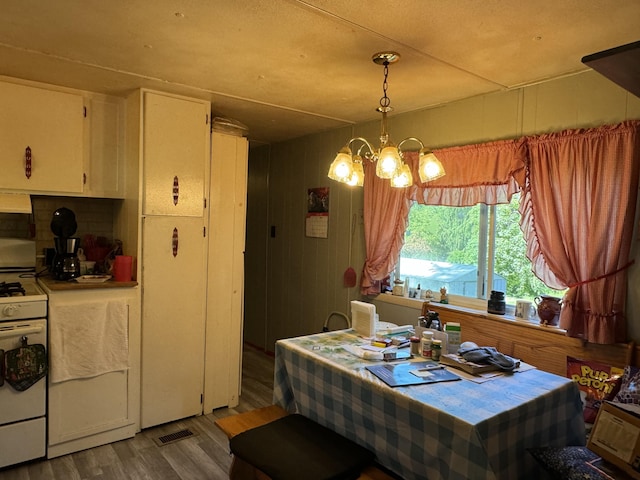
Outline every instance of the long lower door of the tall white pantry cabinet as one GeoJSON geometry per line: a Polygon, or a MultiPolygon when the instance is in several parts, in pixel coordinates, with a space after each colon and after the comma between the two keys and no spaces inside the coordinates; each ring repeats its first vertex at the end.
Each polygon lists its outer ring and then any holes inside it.
{"type": "Polygon", "coordinates": [[[144,217],[142,428],[202,413],[203,219],[144,217]]]}

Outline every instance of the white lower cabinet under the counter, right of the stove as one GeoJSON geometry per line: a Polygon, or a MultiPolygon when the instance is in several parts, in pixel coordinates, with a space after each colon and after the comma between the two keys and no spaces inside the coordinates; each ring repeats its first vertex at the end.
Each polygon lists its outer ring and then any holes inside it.
{"type": "MultiPolygon", "coordinates": [[[[140,405],[140,309],[137,288],[105,288],[83,291],[51,291],[49,294],[49,331],[69,321],[70,317],[82,318],[85,330],[74,320],[77,339],[86,342],[87,352],[98,350],[98,343],[106,342],[109,326],[100,336],[91,334],[92,315],[100,305],[108,302],[126,304],[129,366],[127,369],[111,371],[89,378],[72,378],[55,381],[57,366],[50,340],[50,375],[48,448],[47,457],[54,458],[87,448],[133,437],[139,429],[140,405]],[[74,313],[75,312],[75,313],[74,313]]],[[[122,309],[121,309],[122,311],[122,309]]],[[[68,348],[68,346],[65,346],[68,348]]],[[[75,347],[74,347],[75,348],[75,347]]]]}

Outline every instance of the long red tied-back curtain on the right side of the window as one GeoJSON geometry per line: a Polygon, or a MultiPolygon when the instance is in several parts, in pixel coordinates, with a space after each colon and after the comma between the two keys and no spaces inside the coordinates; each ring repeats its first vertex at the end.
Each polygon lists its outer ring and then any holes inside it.
{"type": "Polygon", "coordinates": [[[626,341],[639,121],[526,139],[521,228],[533,272],[569,291],[560,327],[594,343],[626,341]]]}

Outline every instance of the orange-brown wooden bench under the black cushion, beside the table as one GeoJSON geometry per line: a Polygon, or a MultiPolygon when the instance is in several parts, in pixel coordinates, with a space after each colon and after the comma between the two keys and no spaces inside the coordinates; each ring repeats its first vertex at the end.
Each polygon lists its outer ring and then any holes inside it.
{"type": "MultiPolygon", "coordinates": [[[[277,405],[270,405],[268,407],[251,410],[250,412],[220,418],[215,421],[215,424],[231,439],[235,435],[265,425],[285,415],[288,415],[288,413],[284,409],[277,405]]],[[[270,480],[270,478],[260,470],[235,457],[231,464],[229,478],[232,480],[270,480]]],[[[389,475],[375,465],[370,465],[363,470],[358,480],[396,480],[396,477],[389,475]]]]}

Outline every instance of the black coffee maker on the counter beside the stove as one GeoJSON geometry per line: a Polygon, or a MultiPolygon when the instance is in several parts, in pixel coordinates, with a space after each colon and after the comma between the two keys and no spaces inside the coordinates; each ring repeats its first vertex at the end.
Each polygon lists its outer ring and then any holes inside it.
{"type": "Polygon", "coordinates": [[[53,212],[51,231],[56,236],[53,239],[56,254],[53,257],[52,273],[56,280],[72,280],[80,276],[80,260],[78,248],[80,239],[73,237],[78,224],[73,211],[62,207],[53,212]]]}

